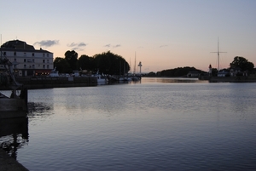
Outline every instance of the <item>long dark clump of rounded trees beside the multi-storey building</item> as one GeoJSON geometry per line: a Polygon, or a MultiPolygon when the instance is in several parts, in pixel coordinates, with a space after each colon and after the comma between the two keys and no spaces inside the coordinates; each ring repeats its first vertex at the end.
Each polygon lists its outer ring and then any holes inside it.
{"type": "Polygon", "coordinates": [[[124,75],[130,71],[130,65],[126,60],[110,51],[95,54],[92,57],[86,54],[82,54],[79,58],[78,56],[79,54],[74,50],[68,50],[65,53],[65,58],[56,57],[54,60],[56,71],[60,73],[72,73],[73,71],[95,73],[99,71],[99,73],[109,75],[124,75]]]}

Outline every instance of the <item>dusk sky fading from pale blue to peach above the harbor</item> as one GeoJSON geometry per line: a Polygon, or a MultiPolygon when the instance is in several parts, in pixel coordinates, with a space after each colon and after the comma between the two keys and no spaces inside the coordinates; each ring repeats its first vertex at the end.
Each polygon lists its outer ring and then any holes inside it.
{"type": "Polygon", "coordinates": [[[256,0],[0,0],[1,43],[19,39],[65,57],[111,51],[143,72],[256,66],[256,0]]]}

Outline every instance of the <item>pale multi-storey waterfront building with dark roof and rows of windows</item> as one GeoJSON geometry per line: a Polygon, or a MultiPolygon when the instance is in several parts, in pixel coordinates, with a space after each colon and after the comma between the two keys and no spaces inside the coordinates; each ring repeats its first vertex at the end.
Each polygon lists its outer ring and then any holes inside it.
{"type": "Polygon", "coordinates": [[[42,48],[35,49],[26,42],[13,40],[3,43],[0,52],[1,58],[13,63],[18,76],[48,75],[53,70],[54,54],[42,48]]]}

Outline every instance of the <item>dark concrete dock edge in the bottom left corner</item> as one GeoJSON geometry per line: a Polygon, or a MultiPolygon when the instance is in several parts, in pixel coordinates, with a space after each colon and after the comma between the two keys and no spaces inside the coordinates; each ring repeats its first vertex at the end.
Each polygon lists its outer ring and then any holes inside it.
{"type": "Polygon", "coordinates": [[[1,171],[28,171],[27,168],[22,166],[14,158],[9,157],[9,155],[0,148],[0,170],[1,171]]]}

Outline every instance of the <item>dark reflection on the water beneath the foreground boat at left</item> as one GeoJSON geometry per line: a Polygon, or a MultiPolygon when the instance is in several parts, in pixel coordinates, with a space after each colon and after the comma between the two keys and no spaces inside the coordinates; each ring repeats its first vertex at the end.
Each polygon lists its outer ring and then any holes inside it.
{"type": "Polygon", "coordinates": [[[17,158],[17,150],[28,143],[28,118],[0,119],[0,148],[17,158]]]}

